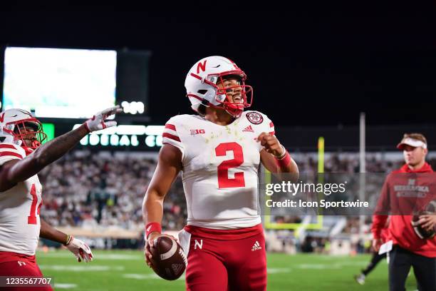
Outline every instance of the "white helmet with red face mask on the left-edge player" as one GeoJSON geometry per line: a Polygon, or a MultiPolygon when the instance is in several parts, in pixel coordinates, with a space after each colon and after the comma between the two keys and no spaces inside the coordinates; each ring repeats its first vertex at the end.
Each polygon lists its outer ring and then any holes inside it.
{"type": "Polygon", "coordinates": [[[0,113],[0,138],[24,148],[27,154],[33,152],[46,140],[42,123],[31,113],[21,109],[8,109],[0,113]],[[30,142],[29,142],[30,141],[30,142]]]}

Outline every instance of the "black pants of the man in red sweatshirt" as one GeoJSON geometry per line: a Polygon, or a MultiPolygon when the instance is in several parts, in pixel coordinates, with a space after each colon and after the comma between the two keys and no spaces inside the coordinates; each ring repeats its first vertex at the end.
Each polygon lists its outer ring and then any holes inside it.
{"type": "Polygon", "coordinates": [[[398,245],[389,253],[389,290],[404,291],[410,267],[413,267],[420,291],[436,291],[436,257],[424,257],[398,245]]]}

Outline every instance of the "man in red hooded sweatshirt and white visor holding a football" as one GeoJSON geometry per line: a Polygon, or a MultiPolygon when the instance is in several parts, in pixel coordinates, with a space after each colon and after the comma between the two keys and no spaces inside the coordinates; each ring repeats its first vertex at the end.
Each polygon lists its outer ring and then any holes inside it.
{"type": "MultiPolygon", "coordinates": [[[[405,165],[390,173],[373,216],[373,247],[380,249],[381,230],[390,215],[390,290],[405,290],[405,281],[413,267],[419,290],[436,290],[436,237],[420,238],[412,225],[413,214],[435,200],[436,175],[425,162],[427,140],[420,133],[405,134],[397,148],[403,150],[405,165]]],[[[420,215],[417,224],[430,232],[436,215],[420,215]]]]}

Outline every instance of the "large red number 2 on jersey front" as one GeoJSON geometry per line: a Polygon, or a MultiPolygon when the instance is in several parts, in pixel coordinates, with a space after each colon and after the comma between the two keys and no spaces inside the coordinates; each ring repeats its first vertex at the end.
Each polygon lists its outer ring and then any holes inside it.
{"type": "Polygon", "coordinates": [[[238,143],[220,143],[215,148],[217,157],[227,155],[227,151],[232,150],[232,160],[224,160],[218,165],[218,188],[245,187],[244,172],[234,173],[234,178],[229,178],[229,168],[237,168],[244,163],[244,153],[242,146],[238,143]]]}

